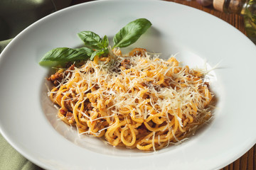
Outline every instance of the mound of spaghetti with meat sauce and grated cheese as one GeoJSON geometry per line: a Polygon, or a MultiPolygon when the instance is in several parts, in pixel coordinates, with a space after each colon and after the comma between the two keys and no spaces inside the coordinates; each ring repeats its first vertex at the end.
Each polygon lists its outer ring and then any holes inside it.
{"type": "Polygon", "coordinates": [[[48,78],[58,117],[110,145],[156,150],[180,142],[212,114],[213,94],[199,69],[144,49],[73,64],[48,78]]]}

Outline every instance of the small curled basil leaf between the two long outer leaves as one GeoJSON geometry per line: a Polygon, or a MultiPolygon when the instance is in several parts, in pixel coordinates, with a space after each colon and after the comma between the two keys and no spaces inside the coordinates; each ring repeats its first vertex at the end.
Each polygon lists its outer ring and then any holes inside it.
{"type": "Polygon", "coordinates": [[[78,33],[79,38],[85,43],[85,46],[95,50],[102,49],[102,39],[92,31],[82,31],[78,33]]]}

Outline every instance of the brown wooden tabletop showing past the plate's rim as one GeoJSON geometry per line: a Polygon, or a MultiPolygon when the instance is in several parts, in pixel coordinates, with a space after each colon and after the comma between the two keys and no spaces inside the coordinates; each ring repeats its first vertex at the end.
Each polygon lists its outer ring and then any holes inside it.
{"type": "MultiPolygon", "coordinates": [[[[207,13],[217,16],[224,21],[230,23],[242,33],[245,33],[245,26],[243,25],[242,16],[236,14],[226,14],[220,11],[215,11],[213,6],[203,7],[196,2],[196,0],[168,0],[174,1],[179,4],[184,4],[187,6],[192,6],[193,8],[198,8],[199,10],[206,11],[207,13]]],[[[86,2],[86,0],[73,0],[71,5],[80,4],[86,2]]],[[[248,152],[246,152],[242,157],[237,159],[235,162],[225,166],[220,170],[256,170],[256,145],[252,147],[248,152]]]]}

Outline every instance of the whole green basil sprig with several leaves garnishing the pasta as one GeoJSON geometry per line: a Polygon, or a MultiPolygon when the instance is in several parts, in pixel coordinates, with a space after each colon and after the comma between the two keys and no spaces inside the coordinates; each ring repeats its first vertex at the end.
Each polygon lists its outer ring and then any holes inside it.
{"type": "MultiPolygon", "coordinates": [[[[132,45],[148,28],[150,28],[150,26],[151,23],[146,18],[139,18],[128,23],[114,35],[113,48],[132,45]]],[[[78,37],[84,42],[85,47],[75,49],[69,47],[55,48],[47,52],[39,64],[42,66],[53,67],[56,65],[63,65],[67,62],[93,60],[95,56],[107,55],[109,53],[109,40],[107,35],[100,38],[100,35],[97,35],[92,31],[82,31],[78,33],[78,37]]]]}

